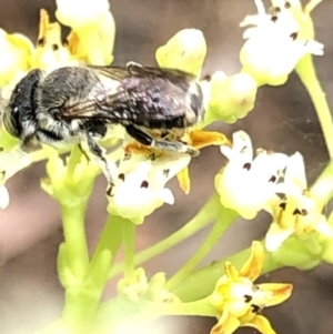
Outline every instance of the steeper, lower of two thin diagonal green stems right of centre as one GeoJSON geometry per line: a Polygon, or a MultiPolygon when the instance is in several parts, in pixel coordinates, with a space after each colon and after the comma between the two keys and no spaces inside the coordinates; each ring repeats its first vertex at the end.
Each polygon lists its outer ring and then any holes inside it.
{"type": "Polygon", "coordinates": [[[182,266],[182,269],[171,277],[167,284],[167,290],[172,290],[175,285],[182,282],[196,266],[196,264],[212,250],[215,243],[220,240],[224,231],[230,224],[239,216],[235,211],[221,206],[218,219],[203,244],[196,251],[196,253],[190,259],[190,261],[182,266]]]}

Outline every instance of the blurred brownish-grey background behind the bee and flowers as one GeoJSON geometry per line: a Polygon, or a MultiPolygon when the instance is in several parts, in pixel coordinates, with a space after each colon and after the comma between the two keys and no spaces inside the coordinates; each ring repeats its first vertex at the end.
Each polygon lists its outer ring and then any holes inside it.
{"type": "MultiPolygon", "coordinates": [[[[0,0],[0,27],[8,32],[22,32],[37,40],[39,9],[51,16],[54,0],[0,0]]],[[[117,22],[114,63],[130,60],[154,65],[154,52],[183,28],[201,29],[209,51],[203,74],[223,70],[240,71],[239,51],[243,44],[239,23],[246,14],[256,13],[252,0],[110,0],[117,22]]],[[[266,1],[266,7],[270,4],[266,1]]],[[[316,58],[319,77],[333,105],[333,1],[325,0],[314,11],[316,40],[325,44],[325,55],[316,58]]],[[[1,55],[0,55],[1,59],[1,55]]],[[[312,182],[327,162],[327,153],[313,105],[297,77],[279,88],[259,90],[255,109],[233,125],[215,123],[214,129],[231,135],[243,129],[255,148],[263,146],[292,154],[301,151],[312,182]]],[[[213,192],[213,180],[225,163],[218,148],[203,150],[190,166],[192,191],[184,195],[171,181],[176,202],[164,205],[138,229],[137,249],[144,249],[165,237],[189,221],[213,192]],[[204,175],[204,176],[203,176],[204,175]]],[[[58,245],[62,241],[57,203],[39,185],[44,163],[24,170],[10,180],[10,206],[0,212],[0,333],[28,334],[58,318],[62,307],[62,287],[56,272],[58,245]]],[[[100,176],[87,212],[87,233],[92,249],[107,217],[105,181],[100,176]]],[[[261,239],[270,217],[260,214],[251,222],[238,221],[212,250],[203,263],[210,263],[249,246],[261,239]]],[[[209,230],[204,230],[165,254],[148,262],[151,276],[158,271],[175,272],[199,247],[209,230]]],[[[332,334],[333,270],[321,265],[311,272],[283,269],[261,277],[269,282],[294,284],[292,297],[279,307],[266,308],[278,333],[332,334]]],[[[111,296],[114,282],[105,292],[111,296]]],[[[165,320],[164,320],[165,321],[165,320]]],[[[209,333],[213,318],[168,318],[169,333],[209,333]]],[[[161,322],[161,326],[163,322],[161,322]]],[[[255,333],[242,328],[238,333],[255,333]]]]}

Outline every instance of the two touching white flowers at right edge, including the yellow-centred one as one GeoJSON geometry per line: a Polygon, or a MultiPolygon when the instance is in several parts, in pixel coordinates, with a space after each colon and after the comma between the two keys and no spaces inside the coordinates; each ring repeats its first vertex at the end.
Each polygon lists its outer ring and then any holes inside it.
{"type": "Polygon", "coordinates": [[[265,210],[273,216],[266,234],[270,252],[291,235],[316,231],[332,237],[333,229],[322,214],[322,202],[307,189],[302,155],[258,150],[253,158],[250,136],[244,131],[233,134],[233,146],[222,146],[229,163],[218,174],[215,188],[221,204],[246,220],[265,210]]]}

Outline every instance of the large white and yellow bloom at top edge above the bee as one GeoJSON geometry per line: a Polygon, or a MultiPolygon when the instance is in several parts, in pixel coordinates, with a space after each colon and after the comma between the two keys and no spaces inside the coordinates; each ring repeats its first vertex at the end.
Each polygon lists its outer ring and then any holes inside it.
{"type": "Polygon", "coordinates": [[[113,59],[115,24],[109,10],[108,0],[57,0],[57,19],[72,28],[70,49],[81,50],[93,64],[110,64],[113,59]]]}

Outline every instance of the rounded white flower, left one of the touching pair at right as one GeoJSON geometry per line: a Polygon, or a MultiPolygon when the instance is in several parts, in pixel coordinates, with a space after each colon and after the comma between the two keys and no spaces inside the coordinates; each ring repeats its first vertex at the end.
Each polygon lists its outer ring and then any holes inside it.
{"type": "Polygon", "coordinates": [[[253,159],[250,136],[233,134],[233,146],[221,146],[229,163],[218,174],[215,188],[222,205],[251,220],[275,193],[276,183],[287,164],[287,155],[261,150],[253,159]]]}

